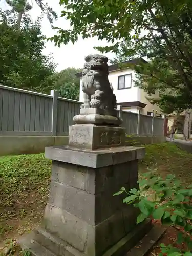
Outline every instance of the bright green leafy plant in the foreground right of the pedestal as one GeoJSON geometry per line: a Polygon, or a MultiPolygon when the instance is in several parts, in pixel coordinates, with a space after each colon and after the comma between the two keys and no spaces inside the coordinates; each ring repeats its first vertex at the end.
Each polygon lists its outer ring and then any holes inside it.
{"type": "Polygon", "coordinates": [[[192,256],[192,185],[183,189],[174,175],[167,175],[163,179],[153,173],[144,174],[138,183],[139,190],[133,188],[128,192],[122,187],[114,196],[126,193],[123,202],[139,208],[137,224],[151,218],[161,220],[162,224],[176,225],[184,229],[184,232],[178,233],[177,244],[186,243],[186,251],[161,244],[159,256],[192,256]]]}

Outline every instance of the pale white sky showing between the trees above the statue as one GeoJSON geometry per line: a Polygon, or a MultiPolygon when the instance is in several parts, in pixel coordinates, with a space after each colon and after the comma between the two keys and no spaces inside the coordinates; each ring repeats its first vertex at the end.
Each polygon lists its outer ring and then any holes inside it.
{"type": "MultiPolygon", "coordinates": [[[[29,12],[32,19],[35,20],[38,16],[41,15],[41,9],[37,6],[35,0],[28,0],[31,4],[33,1],[33,8],[29,12]]],[[[47,0],[45,1],[51,6],[60,16],[63,7],[59,5],[59,0],[47,0]],[[53,4],[54,2],[54,4],[53,4]]],[[[8,9],[8,5],[6,4],[5,0],[0,0],[0,7],[5,10],[8,9]]],[[[59,17],[57,22],[54,23],[55,26],[61,28],[70,28],[70,22],[65,20],[63,17],[59,17]]],[[[56,31],[51,29],[50,23],[47,20],[47,17],[44,18],[42,22],[42,33],[47,36],[53,36],[56,31]]],[[[65,69],[67,67],[75,67],[75,68],[82,68],[84,63],[84,57],[88,54],[96,54],[99,53],[95,49],[94,46],[106,46],[106,41],[98,40],[96,37],[89,38],[89,39],[82,39],[79,40],[73,45],[69,43],[68,45],[61,45],[60,48],[54,46],[54,42],[46,42],[46,49],[44,50],[44,54],[53,54],[54,62],[57,64],[57,71],[65,69]]],[[[108,53],[105,54],[109,59],[114,57],[114,54],[108,53]]]]}

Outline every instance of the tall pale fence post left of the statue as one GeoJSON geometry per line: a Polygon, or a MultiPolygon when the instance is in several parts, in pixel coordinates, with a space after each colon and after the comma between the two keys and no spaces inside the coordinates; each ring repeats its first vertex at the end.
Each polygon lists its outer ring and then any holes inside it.
{"type": "Polygon", "coordinates": [[[52,120],[51,120],[51,135],[57,135],[57,90],[51,90],[51,96],[53,97],[52,103],[52,120]]]}

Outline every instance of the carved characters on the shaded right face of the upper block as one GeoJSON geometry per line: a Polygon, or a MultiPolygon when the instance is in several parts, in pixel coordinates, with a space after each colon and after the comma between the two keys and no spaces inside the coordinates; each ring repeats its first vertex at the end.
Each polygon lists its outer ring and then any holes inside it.
{"type": "Polygon", "coordinates": [[[102,132],[100,135],[101,145],[119,145],[121,140],[122,134],[117,131],[102,132]]]}

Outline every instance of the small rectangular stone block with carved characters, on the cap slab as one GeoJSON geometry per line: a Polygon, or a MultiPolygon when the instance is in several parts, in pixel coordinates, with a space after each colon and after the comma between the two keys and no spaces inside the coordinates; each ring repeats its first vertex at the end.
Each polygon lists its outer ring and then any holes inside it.
{"type": "Polygon", "coordinates": [[[123,146],[125,129],[94,124],[75,124],[69,127],[69,146],[96,150],[123,146]]]}

